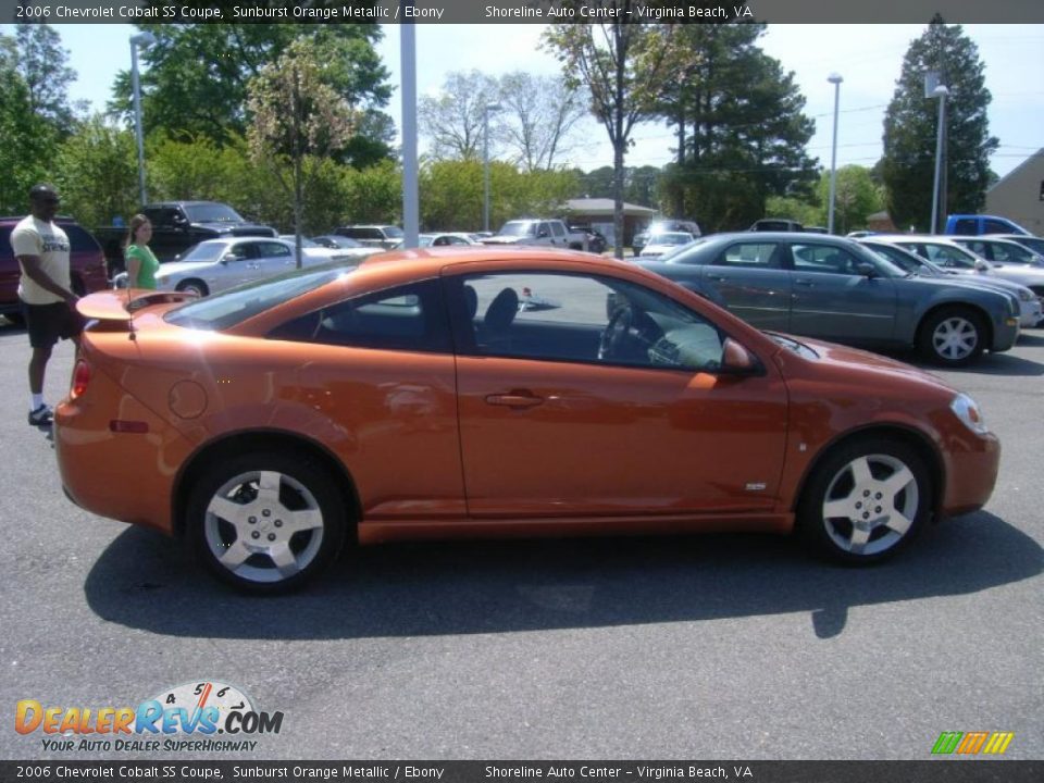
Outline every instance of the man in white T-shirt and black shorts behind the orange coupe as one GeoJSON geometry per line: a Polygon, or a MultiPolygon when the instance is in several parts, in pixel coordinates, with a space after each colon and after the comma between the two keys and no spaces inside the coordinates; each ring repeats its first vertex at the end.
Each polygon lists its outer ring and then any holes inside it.
{"type": "Polygon", "coordinates": [[[53,411],[44,402],[44,373],[59,339],[77,343],[83,322],[72,291],[69,237],[54,223],[59,198],[50,185],[29,190],[30,214],[11,232],[11,248],[22,269],[18,298],[25,313],[33,358],[29,359],[29,424],[51,423],[53,411]]]}

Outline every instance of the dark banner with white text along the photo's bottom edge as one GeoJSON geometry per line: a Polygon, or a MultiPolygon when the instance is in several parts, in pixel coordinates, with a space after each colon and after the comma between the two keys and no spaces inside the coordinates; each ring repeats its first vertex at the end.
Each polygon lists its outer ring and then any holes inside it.
{"type": "Polygon", "coordinates": [[[1036,783],[1044,761],[0,761],[16,781],[1036,783]]]}

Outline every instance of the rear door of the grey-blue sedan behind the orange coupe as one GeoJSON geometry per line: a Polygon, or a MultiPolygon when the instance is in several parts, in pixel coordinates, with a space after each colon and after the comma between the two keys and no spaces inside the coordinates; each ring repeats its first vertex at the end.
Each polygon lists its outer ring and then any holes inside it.
{"type": "Polygon", "coordinates": [[[730,243],[704,270],[729,309],[751,326],[787,332],[791,327],[791,273],[779,240],[730,243]]]}

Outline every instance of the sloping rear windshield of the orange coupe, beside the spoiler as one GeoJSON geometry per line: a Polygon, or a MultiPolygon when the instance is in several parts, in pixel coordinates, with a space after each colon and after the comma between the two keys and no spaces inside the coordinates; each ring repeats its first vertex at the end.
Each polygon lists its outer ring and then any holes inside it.
{"type": "Polygon", "coordinates": [[[248,283],[197,299],[171,310],[164,318],[176,326],[220,332],[349,274],[355,269],[352,265],[338,264],[295,270],[278,277],[248,283]]]}

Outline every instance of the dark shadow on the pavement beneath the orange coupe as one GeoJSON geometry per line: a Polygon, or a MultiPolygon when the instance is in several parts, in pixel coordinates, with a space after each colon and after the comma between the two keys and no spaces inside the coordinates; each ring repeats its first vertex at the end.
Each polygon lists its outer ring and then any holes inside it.
{"type": "Polygon", "coordinates": [[[872,568],[739,534],[411,543],[352,550],[302,592],[259,598],[224,587],[170,539],[128,529],[85,592],[100,618],[170,636],[457,635],[807,612],[815,635],[830,638],[853,607],[977,593],[1042,566],[1030,536],[979,512],[927,529],[872,568]]]}

